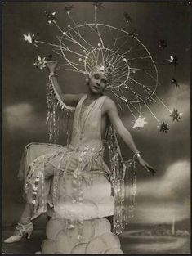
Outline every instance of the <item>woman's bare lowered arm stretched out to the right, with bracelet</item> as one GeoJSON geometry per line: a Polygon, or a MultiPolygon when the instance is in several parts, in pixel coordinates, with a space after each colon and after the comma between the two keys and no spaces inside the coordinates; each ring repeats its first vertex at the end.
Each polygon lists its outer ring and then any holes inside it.
{"type": "Polygon", "coordinates": [[[135,142],[132,139],[131,133],[127,130],[127,128],[124,127],[122,120],[119,118],[118,115],[118,109],[115,105],[114,101],[112,101],[110,98],[107,98],[104,102],[105,112],[109,116],[109,120],[111,124],[113,124],[114,128],[118,132],[118,135],[123,138],[123,141],[126,143],[127,147],[132,151],[132,154],[136,156],[136,159],[139,164],[147,172],[150,172],[152,174],[155,173],[154,168],[150,166],[147,162],[145,162],[144,159],[142,159],[139,150],[137,150],[135,142]]]}

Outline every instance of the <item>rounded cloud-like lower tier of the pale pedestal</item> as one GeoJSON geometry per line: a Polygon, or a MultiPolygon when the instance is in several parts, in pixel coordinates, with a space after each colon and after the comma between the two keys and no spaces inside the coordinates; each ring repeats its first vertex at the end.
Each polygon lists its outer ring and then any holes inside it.
{"type": "Polygon", "coordinates": [[[85,220],[82,238],[78,225],[66,228],[66,221],[51,218],[47,222],[47,239],[42,241],[42,254],[123,254],[118,236],[111,232],[106,218],[85,220]]]}

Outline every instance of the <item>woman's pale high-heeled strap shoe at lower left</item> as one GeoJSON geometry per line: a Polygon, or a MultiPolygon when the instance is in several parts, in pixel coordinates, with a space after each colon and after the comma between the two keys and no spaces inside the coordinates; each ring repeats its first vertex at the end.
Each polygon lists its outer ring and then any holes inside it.
{"type": "Polygon", "coordinates": [[[18,242],[21,240],[22,236],[24,236],[25,234],[27,234],[27,238],[29,239],[33,231],[33,223],[29,222],[26,225],[18,223],[16,226],[16,231],[19,231],[19,232],[16,232],[17,233],[16,235],[10,236],[6,240],[4,240],[4,242],[5,243],[18,242]]]}

